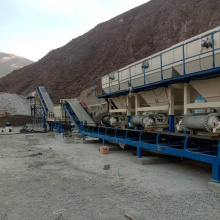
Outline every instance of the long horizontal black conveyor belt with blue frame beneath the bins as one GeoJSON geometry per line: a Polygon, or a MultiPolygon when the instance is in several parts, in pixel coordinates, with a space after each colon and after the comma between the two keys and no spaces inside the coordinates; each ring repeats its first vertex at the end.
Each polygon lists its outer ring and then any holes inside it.
{"type": "Polygon", "coordinates": [[[212,164],[213,181],[220,182],[220,137],[98,126],[84,126],[80,133],[84,140],[86,136],[102,139],[103,145],[111,141],[134,146],[137,157],[147,149],[212,164]]]}

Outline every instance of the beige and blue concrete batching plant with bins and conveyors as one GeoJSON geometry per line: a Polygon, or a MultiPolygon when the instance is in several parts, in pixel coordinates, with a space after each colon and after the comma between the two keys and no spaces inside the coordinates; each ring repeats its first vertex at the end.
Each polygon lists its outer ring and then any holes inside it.
{"type": "MultiPolygon", "coordinates": [[[[96,96],[109,109],[101,124],[76,100],[61,101],[59,120],[103,145],[107,140],[135,146],[137,157],[147,149],[210,163],[213,181],[220,182],[219,84],[220,27],[95,80],[96,96]]],[[[47,105],[39,88],[41,105],[47,105]]],[[[55,124],[49,106],[44,111],[55,124]]]]}

